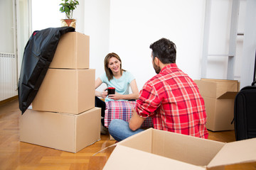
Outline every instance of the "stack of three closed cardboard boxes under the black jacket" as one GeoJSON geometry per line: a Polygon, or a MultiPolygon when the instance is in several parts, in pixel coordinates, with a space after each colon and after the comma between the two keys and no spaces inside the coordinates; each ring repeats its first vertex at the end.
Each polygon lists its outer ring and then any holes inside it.
{"type": "Polygon", "coordinates": [[[62,35],[32,109],[21,115],[22,142],[78,152],[100,140],[100,108],[95,108],[95,69],[89,68],[89,46],[87,35],[62,35]]]}

